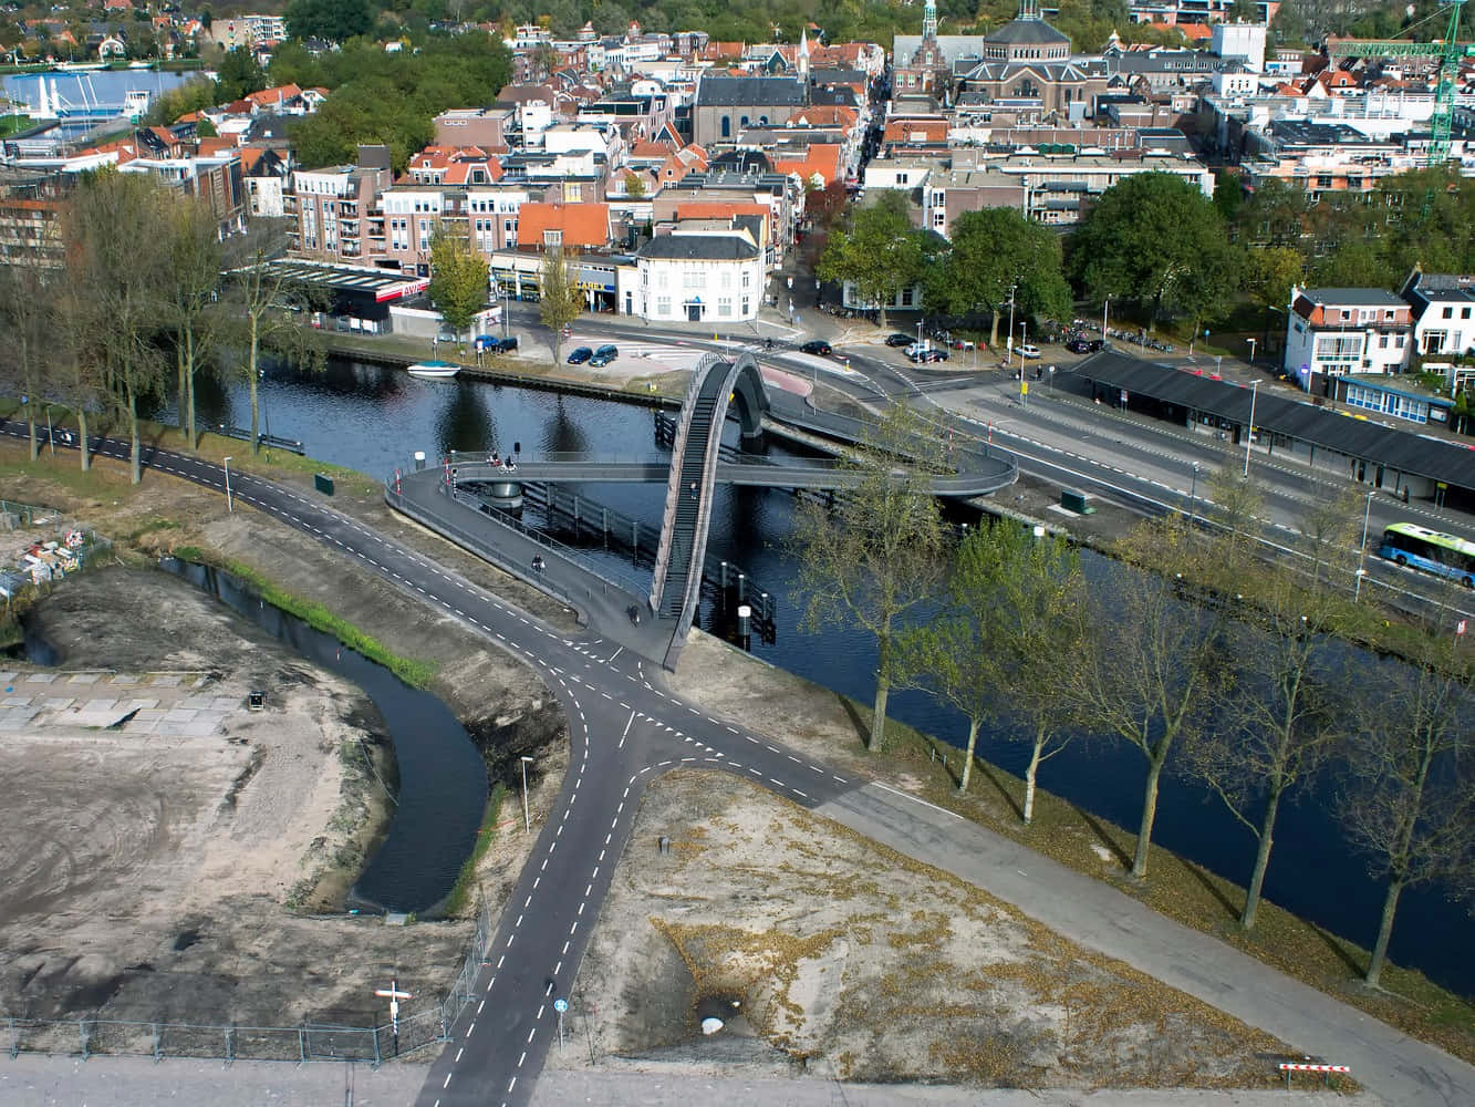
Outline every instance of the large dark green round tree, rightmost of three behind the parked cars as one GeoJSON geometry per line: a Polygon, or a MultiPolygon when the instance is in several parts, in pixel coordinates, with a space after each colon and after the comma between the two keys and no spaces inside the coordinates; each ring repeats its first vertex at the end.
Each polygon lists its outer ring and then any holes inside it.
{"type": "Polygon", "coordinates": [[[1074,276],[1096,300],[1130,298],[1195,319],[1233,289],[1224,220],[1193,184],[1170,173],[1137,173],[1102,193],[1069,241],[1074,276]]]}

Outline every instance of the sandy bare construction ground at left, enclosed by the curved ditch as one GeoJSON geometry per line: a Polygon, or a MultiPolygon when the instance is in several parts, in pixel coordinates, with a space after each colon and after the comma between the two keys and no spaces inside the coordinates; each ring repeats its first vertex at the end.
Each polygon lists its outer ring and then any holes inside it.
{"type": "MultiPolygon", "coordinates": [[[[364,754],[384,735],[357,688],[162,573],[68,580],[37,623],[63,655],[43,675],[53,704],[78,670],[96,679],[25,729],[0,723],[0,1011],[364,1026],[384,1018],[372,993],[389,971],[444,990],[468,924],[288,906],[341,893],[381,822],[364,754]],[[267,710],[245,710],[252,688],[271,689],[267,710]],[[96,717],[119,691],[156,711],[236,708],[193,734],[77,725],[78,706],[96,717]]],[[[16,694],[32,686],[7,670],[16,694]]]]}

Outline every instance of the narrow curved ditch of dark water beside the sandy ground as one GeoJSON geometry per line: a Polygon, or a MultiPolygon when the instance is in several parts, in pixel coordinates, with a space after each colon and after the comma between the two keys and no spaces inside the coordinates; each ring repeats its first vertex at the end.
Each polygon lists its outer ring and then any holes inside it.
{"type": "Polygon", "coordinates": [[[442,900],[471,853],[487,806],[481,754],[450,708],[336,638],[263,602],[229,573],[174,559],[164,567],[373,700],[394,741],[398,803],[353,900],[369,909],[420,912],[442,900]]]}

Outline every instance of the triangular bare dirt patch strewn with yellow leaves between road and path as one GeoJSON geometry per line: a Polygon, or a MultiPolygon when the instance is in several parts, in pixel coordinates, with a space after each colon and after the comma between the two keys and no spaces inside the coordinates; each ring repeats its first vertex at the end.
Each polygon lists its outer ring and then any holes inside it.
{"type": "Polygon", "coordinates": [[[553,1064],[847,1080],[1257,1088],[1286,1046],[752,785],[650,787],[553,1064]],[[668,835],[671,849],[655,849],[668,835]],[[701,1020],[727,1024],[704,1036],[701,1020]]]}

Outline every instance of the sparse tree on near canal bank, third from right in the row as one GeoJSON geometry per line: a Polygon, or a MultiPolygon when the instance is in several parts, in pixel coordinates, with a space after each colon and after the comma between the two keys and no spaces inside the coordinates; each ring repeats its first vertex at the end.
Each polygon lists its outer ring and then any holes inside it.
{"type": "Polygon", "coordinates": [[[1122,543],[1130,562],[1115,592],[1093,592],[1081,658],[1066,666],[1062,694],[1083,722],[1137,750],[1148,762],[1131,875],[1148,875],[1162,769],[1174,744],[1201,722],[1223,670],[1220,613],[1183,595],[1190,567],[1177,520],[1145,523],[1122,543]],[[1158,568],[1148,570],[1145,565],[1158,568]]]}

